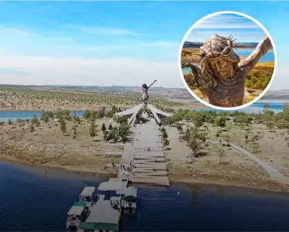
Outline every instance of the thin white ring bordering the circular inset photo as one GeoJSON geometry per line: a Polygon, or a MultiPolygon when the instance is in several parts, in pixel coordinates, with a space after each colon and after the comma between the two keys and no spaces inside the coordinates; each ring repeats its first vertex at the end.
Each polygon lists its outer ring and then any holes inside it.
{"type": "Polygon", "coordinates": [[[187,88],[187,90],[189,91],[189,93],[191,93],[193,95],[193,97],[195,97],[198,101],[200,101],[201,103],[203,103],[205,106],[209,106],[210,108],[215,108],[217,110],[239,110],[241,108],[245,108],[247,106],[250,106],[251,104],[253,104],[254,102],[258,101],[261,97],[263,97],[263,95],[268,91],[268,89],[270,88],[273,80],[274,80],[274,77],[276,75],[276,70],[277,70],[277,51],[276,51],[276,47],[275,47],[275,44],[274,44],[274,41],[272,39],[272,37],[270,36],[268,30],[259,22],[257,21],[256,19],[250,17],[249,15],[247,14],[243,14],[241,12],[236,12],[236,11],[219,11],[219,12],[214,12],[212,14],[208,14],[207,16],[203,17],[202,19],[199,19],[198,21],[196,21],[196,23],[194,23],[194,25],[189,28],[189,30],[187,31],[187,33],[185,34],[185,37],[183,38],[183,41],[182,43],[180,44],[180,50],[178,52],[178,70],[180,72],[180,77],[182,78],[183,80],[183,83],[185,84],[185,87],[187,88]],[[263,90],[263,92],[257,97],[255,98],[254,100],[246,103],[246,104],[243,104],[242,106],[236,106],[236,107],[220,107],[220,106],[214,106],[214,105],[211,105],[209,103],[207,103],[206,101],[203,101],[202,99],[200,99],[197,95],[194,94],[193,90],[191,90],[189,88],[189,86],[187,85],[187,82],[185,81],[185,77],[183,76],[183,71],[182,71],[182,67],[181,67],[181,64],[180,64],[180,58],[181,58],[181,54],[182,54],[182,50],[183,50],[183,46],[184,46],[184,43],[189,35],[189,33],[192,32],[192,30],[198,25],[198,23],[201,23],[202,21],[204,21],[205,19],[208,19],[212,16],[216,16],[218,14],[238,14],[238,15],[241,15],[247,19],[251,19],[252,21],[254,21],[254,23],[256,23],[260,28],[263,29],[263,31],[268,35],[271,43],[272,43],[272,48],[273,48],[273,51],[274,51],[274,70],[273,70],[273,74],[272,74],[272,77],[270,79],[270,82],[268,84],[268,86],[265,88],[265,90],[263,90]]]}

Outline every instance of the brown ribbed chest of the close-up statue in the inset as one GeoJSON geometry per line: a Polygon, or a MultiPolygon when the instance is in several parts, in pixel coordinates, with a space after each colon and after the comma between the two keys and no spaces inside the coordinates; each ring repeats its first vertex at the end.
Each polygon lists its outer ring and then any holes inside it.
{"type": "Polygon", "coordinates": [[[221,80],[215,93],[209,96],[209,103],[214,106],[235,107],[243,105],[245,75],[237,72],[233,79],[221,80]]]}

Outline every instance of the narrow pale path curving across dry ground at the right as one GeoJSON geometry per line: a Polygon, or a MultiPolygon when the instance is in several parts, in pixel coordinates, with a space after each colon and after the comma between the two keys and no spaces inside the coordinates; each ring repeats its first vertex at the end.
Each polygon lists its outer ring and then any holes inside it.
{"type": "MultiPolygon", "coordinates": [[[[218,141],[209,141],[207,142],[213,143],[213,144],[227,144],[223,142],[218,142],[218,141]]],[[[260,160],[257,156],[253,155],[252,153],[246,151],[245,149],[241,148],[240,146],[237,146],[236,144],[230,143],[230,145],[235,148],[236,150],[240,151],[241,153],[247,155],[250,157],[252,160],[257,162],[265,171],[268,172],[270,177],[273,180],[277,180],[277,182],[281,182],[282,184],[286,184],[286,186],[289,186],[289,177],[286,177],[282,173],[280,173],[276,168],[268,164],[267,162],[260,160]]]]}

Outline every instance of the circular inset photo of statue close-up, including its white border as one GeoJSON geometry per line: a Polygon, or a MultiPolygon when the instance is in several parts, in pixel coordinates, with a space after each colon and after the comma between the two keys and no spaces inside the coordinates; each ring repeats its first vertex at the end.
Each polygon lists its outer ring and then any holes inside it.
{"type": "Polygon", "coordinates": [[[277,53],[268,31],[240,12],[203,17],[180,46],[179,70],[187,90],[220,110],[237,110],[260,99],[276,67],[277,53]]]}

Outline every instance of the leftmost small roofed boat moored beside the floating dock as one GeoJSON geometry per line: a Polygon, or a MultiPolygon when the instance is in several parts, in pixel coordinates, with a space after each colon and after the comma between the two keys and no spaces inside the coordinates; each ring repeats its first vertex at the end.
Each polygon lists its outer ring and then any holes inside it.
{"type": "Polygon", "coordinates": [[[86,202],[75,202],[67,213],[66,229],[77,230],[86,216],[86,202]]]}

